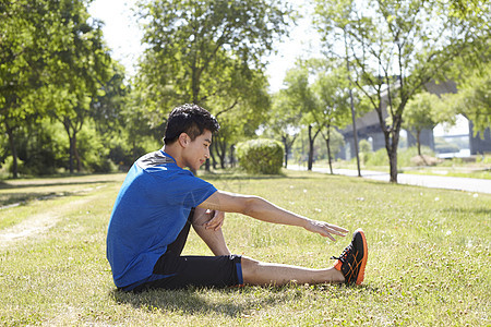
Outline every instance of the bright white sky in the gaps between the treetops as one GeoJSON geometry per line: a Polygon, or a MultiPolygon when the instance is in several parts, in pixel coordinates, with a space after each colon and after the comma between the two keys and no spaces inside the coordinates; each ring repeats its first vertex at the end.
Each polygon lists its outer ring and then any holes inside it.
{"type": "MultiPolygon", "coordinates": [[[[307,10],[303,8],[307,2],[304,0],[290,2],[303,12],[307,10]]],[[[142,32],[132,12],[136,0],[94,0],[88,8],[93,17],[105,23],[104,37],[111,49],[112,58],[121,62],[130,75],[134,75],[134,64],[144,49],[140,44],[142,32]]],[[[320,53],[318,39],[304,19],[291,29],[287,40],[276,45],[277,53],[267,59],[270,64],[266,74],[272,92],[282,87],[286,71],[294,66],[298,58],[311,58],[313,53],[320,53]]]]}

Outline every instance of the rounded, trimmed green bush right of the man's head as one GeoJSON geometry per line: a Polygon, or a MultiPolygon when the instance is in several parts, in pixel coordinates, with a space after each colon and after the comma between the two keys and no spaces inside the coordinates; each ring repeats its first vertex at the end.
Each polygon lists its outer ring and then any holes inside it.
{"type": "Polygon", "coordinates": [[[274,140],[251,140],[236,148],[239,165],[248,173],[278,174],[283,166],[283,146],[274,140]]]}

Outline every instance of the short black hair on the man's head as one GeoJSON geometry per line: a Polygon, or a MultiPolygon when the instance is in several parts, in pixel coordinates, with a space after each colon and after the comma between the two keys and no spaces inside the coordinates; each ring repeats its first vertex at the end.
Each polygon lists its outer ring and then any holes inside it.
{"type": "Polygon", "coordinates": [[[167,120],[165,144],[172,144],[181,133],[185,133],[194,141],[205,130],[217,132],[220,125],[208,110],[194,104],[185,104],[172,109],[167,120]]]}

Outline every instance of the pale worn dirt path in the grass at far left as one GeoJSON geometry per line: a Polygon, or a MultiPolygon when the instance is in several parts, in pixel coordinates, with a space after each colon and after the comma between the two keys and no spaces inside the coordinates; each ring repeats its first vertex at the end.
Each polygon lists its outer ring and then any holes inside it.
{"type": "Polygon", "coordinates": [[[44,233],[52,228],[67,211],[74,210],[93,199],[92,196],[67,203],[57,207],[56,210],[34,215],[17,225],[0,230],[0,249],[11,246],[36,234],[44,233]]]}

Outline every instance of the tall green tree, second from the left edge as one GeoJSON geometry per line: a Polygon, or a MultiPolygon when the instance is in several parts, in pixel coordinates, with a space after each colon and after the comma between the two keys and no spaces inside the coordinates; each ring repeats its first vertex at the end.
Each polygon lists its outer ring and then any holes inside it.
{"type": "Polygon", "coordinates": [[[77,133],[91,117],[91,102],[104,95],[103,85],[109,80],[111,64],[103,43],[101,24],[89,22],[83,1],[61,1],[60,31],[63,43],[47,65],[48,83],[55,87],[49,101],[49,113],[60,121],[69,137],[69,169],[82,169],[77,150],[77,133]]]}

